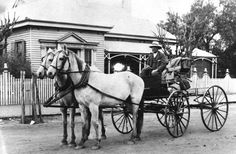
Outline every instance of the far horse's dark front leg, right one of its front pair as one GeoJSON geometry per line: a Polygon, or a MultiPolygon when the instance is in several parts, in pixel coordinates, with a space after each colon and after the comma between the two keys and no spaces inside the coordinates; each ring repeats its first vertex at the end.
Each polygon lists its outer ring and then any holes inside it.
{"type": "Polygon", "coordinates": [[[69,146],[74,147],[75,143],[75,108],[70,110],[70,127],[71,127],[71,141],[69,146]]]}

